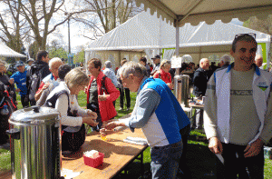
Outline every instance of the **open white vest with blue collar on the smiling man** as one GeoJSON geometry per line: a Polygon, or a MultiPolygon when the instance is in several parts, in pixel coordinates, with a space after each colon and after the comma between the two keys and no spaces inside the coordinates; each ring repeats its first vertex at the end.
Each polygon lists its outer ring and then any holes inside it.
{"type": "MultiPolygon", "coordinates": [[[[228,144],[229,142],[229,120],[230,120],[230,88],[231,88],[231,73],[228,68],[219,70],[214,73],[216,82],[216,95],[218,98],[218,134],[221,142],[228,144]]],[[[271,91],[272,74],[260,70],[255,66],[255,73],[252,83],[253,100],[257,110],[257,116],[260,120],[260,127],[257,135],[249,144],[257,140],[264,128],[265,114],[267,113],[267,98],[271,91]]]]}

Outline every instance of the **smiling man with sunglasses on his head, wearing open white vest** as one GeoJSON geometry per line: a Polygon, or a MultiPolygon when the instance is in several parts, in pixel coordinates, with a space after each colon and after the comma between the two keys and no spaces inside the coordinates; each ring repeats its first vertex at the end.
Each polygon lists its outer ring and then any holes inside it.
{"type": "Polygon", "coordinates": [[[255,64],[255,34],[236,35],[235,62],[209,79],[204,128],[209,149],[222,154],[226,178],[264,178],[264,150],[272,137],[272,75],[255,64]]]}

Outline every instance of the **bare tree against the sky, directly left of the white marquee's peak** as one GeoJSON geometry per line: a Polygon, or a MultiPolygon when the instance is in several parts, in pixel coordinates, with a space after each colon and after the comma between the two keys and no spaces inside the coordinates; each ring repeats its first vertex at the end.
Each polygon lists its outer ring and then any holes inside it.
{"type": "Polygon", "coordinates": [[[83,0],[75,2],[75,5],[81,7],[85,13],[74,15],[73,19],[89,29],[92,36],[83,36],[92,40],[108,33],[143,10],[137,7],[133,0],[83,0]]]}

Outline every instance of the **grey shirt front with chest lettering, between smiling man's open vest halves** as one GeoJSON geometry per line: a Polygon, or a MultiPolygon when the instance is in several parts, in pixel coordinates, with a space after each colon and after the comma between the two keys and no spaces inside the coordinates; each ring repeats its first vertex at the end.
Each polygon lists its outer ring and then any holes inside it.
{"type": "Polygon", "coordinates": [[[258,133],[260,120],[253,101],[254,68],[231,72],[229,143],[247,145],[258,133]]]}

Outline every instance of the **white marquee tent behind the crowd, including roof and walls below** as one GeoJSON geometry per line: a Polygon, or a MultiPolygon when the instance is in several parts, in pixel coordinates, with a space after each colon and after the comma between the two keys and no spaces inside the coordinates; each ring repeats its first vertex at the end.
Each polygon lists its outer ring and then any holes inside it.
{"type": "MultiPolygon", "coordinates": [[[[148,56],[151,56],[154,53],[153,49],[163,49],[163,57],[170,58],[174,53],[173,48],[176,47],[176,30],[175,27],[157,16],[157,13],[151,15],[150,11],[147,10],[147,12],[142,12],[140,15],[131,18],[89,45],[86,49],[86,59],[93,57],[94,52],[103,51],[105,53],[104,51],[109,50],[112,51],[110,53],[112,56],[119,59],[123,56],[118,55],[117,51],[144,50],[148,56]]],[[[262,47],[259,49],[264,50],[263,53],[260,51],[259,54],[262,54],[266,59],[270,35],[239,25],[224,24],[220,20],[213,25],[201,22],[196,26],[187,23],[180,27],[179,53],[180,55],[189,54],[193,57],[194,62],[199,63],[199,59],[202,57],[228,54],[234,36],[245,33],[257,35],[257,43],[260,43],[259,47],[262,47]]]]}

